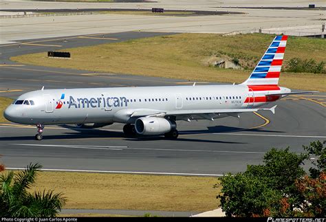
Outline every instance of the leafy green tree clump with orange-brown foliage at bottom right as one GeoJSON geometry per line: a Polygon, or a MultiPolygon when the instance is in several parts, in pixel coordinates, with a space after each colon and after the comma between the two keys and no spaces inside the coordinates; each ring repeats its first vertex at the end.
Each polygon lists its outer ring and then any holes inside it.
{"type": "Polygon", "coordinates": [[[263,164],[248,165],[244,173],[219,178],[221,208],[228,217],[325,217],[325,148],[313,142],[305,150],[291,153],[272,148],[263,164]],[[309,177],[303,163],[309,154],[318,156],[309,177]]]}

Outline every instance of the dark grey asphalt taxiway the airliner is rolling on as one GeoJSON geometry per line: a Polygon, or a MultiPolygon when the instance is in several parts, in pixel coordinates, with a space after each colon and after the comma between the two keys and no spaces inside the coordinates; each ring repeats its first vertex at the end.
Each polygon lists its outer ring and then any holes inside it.
{"type": "MultiPolygon", "coordinates": [[[[106,34],[102,39],[75,36],[54,41],[40,39],[33,43],[22,41],[21,44],[0,45],[0,96],[15,98],[43,85],[50,89],[180,85],[180,82],[186,82],[142,76],[90,75],[89,71],[30,65],[15,66],[19,64],[8,60],[10,56],[56,48],[51,45],[76,47],[113,41],[108,38],[124,41],[157,34],[124,32],[106,34]]],[[[271,147],[290,146],[291,151],[300,153],[303,144],[326,140],[325,102],[325,93],[289,96],[275,103],[278,105],[275,115],[261,113],[263,118],[244,113],[240,119],[229,117],[215,122],[178,122],[178,140],[165,140],[164,137],[125,138],[122,124],[113,124],[94,130],[49,126],[45,127],[44,140],[36,142],[34,126],[1,124],[1,162],[12,168],[40,162],[48,169],[188,175],[236,173],[245,170],[247,164],[261,163],[264,153],[271,147]]]]}

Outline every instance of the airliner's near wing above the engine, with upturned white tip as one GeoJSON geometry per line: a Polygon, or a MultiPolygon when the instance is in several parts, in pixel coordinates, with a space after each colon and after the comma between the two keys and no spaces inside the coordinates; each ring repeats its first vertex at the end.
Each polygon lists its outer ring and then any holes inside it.
{"type": "Polygon", "coordinates": [[[195,115],[195,114],[212,114],[212,113],[247,113],[257,111],[271,111],[275,113],[277,105],[270,109],[258,108],[258,109],[195,109],[195,110],[173,110],[173,111],[162,111],[162,110],[137,110],[133,111],[131,117],[143,117],[143,116],[165,116],[165,115],[195,115]]]}

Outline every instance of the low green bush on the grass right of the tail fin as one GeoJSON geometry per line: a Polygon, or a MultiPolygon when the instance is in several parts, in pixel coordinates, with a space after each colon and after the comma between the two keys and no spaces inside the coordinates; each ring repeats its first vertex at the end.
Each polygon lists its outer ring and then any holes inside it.
{"type": "Polygon", "coordinates": [[[301,58],[291,58],[287,63],[287,69],[290,72],[307,72],[314,74],[325,74],[325,62],[316,63],[312,58],[301,60],[301,58]]]}

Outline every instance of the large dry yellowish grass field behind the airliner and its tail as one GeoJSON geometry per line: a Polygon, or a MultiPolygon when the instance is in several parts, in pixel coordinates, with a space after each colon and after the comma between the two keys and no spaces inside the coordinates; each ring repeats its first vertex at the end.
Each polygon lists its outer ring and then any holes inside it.
{"type": "MultiPolygon", "coordinates": [[[[140,38],[121,43],[107,43],[90,47],[63,49],[72,54],[70,60],[47,58],[46,53],[12,57],[19,63],[65,67],[116,74],[133,74],[180,78],[210,82],[236,82],[246,80],[252,67],[274,35],[240,34],[175,34],[140,38]],[[87,56],[85,56],[87,55],[87,56]],[[248,70],[221,69],[205,65],[214,56],[238,58],[248,70]]],[[[317,38],[290,37],[287,41],[285,64],[291,58],[316,62],[326,58],[326,41],[317,38]]],[[[280,83],[292,89],[326,91],[323,74],[282,73],[280,83]],[[308,84],[307,84],[308,82],[308,84]]]]}

